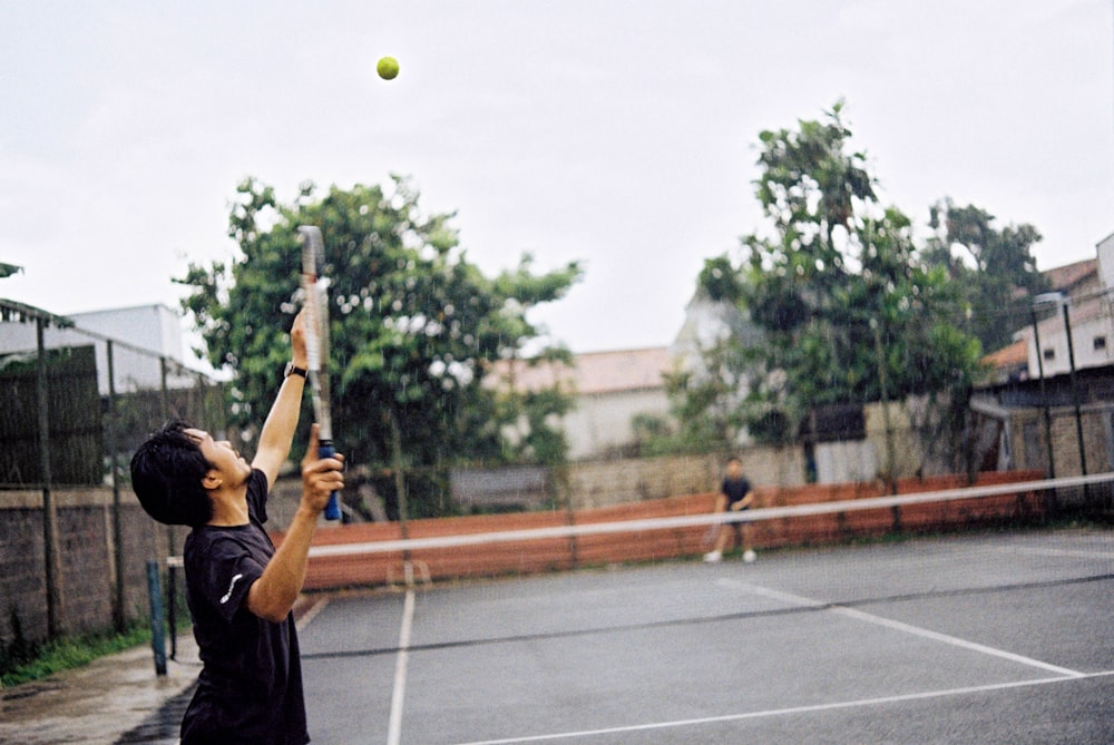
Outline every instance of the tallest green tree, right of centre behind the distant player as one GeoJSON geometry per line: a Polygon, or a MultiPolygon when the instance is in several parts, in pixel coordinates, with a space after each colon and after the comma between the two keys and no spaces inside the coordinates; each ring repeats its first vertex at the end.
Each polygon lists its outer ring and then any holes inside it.
{"type": "Polygon", "coordinates": [[[850,138],[841,102],[822,121],[760,135],[765,229],[743,236],[737,263],[711,259],[697,290],[758,333],[705,351],[680,386],[690,428],[785,442],[817,405],[929,392],[966,402],[979,349],[952,325],[960,298],[921,259],[909,218],[879,204],[850,138]]]}

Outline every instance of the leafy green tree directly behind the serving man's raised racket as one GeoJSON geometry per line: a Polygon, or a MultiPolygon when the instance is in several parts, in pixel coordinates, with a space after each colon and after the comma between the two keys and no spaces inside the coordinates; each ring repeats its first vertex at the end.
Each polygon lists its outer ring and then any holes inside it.
{"type": "MultiPolygon", "coordinates": [[[[496,361],[520,356],[539,337],[529,310],[563,297],[582,272],[570,263],[536,274],[524,256],[489,278],[460,249],[455,215],[427,215],[405,179],[392,186],[333,187],[317,198],[305,184],[283,205],[272,187],[247,179],[229,218],[240,256],[190,265],[180,282],[208,359],[235,375],[234,423],[251,428],[289,354],[300,304],[296,227],[320,226],[338,447],[350,463],[393,471],[384,490],[399,502],[409,491],[407,514],[419,517],[444,503],[446,465],[507,457],[502,428],[518,412],[499,405],[505,392],[483,380],[496,361]]],[[[547,347],[539,356],[563,354],[547,347]]]]}

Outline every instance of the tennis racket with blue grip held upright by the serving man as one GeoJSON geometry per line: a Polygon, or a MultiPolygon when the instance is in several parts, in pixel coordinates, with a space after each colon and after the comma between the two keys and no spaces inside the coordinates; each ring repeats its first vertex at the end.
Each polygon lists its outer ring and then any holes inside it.
{"type": "MultiPolygon", "coordinates": [[[[317,458],[330,458],[333,448],[333,420],[329,398],[329,286],[321,275],[325,267],[325,241],[321,228],[302,225],[302,304],[305,308],[305,353],[310,365],[310,394],[317,421],[317,458]]],[[[325,519],[339,520],[340,499],[334,491],[325,506],[325,519]]]]}

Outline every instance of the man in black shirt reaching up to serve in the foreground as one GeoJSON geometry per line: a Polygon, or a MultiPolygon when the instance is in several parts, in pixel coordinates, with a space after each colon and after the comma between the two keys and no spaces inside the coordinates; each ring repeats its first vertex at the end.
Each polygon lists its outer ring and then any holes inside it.
{"type": "Polygon", "coordinates": [[[276,550],[263,523],[301,410],[301,315],[291,342],[292,362],[251,463],[228,442],[180,421],[154,433],[131,459],[133,488],[148,514],[193,528],[184,552],[186,594],[203,668],[182,723],[183,745],[310,742],[291,609],[317,516],[344,484],[343,457],[316,459],[314,425],[302,463],[302,500],[276,550]]]}

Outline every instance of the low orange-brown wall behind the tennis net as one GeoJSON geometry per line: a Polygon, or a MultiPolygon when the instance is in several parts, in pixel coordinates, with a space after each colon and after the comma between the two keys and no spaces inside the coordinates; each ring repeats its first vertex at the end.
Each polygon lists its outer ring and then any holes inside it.
{"type": "MultiPolygon", "coordinates": [[[[1012,471],[981,474],[976,486],[1033,481],[1043,478],[1037,471],[1012,471]]],[[[939,491],[968,486],[961,477],[910,479],[898,483],[898,493],[939,491]]],[[[810,487],[759,487],[756,507],[782,507],[881,497],[890,493],[879,483],[810,487]]],[[[529,530],[569,525],[592,525],[618,520],[642,520],[684,514],[703,514],[714,509],[715,494],[691,494],[647,500],[615,507],[567,512],[527,512],[515,514],[412,520],[409,538],[461,536],[507,530],[529,530]]],[[[758,548],[830,543],[860,537],[877,537],[895,530],[936,531],[976,527],[1016,518],[1039,518],[1043,500],[1032,492],[1010,493],[947,502],[852,510],[814,516],[808,519],[759,521],[753,530],[758,548]]],[[[414,549],[408,557],[418,568],[419,579],[428,571],[430,579],[525,575],[602,566],[623,561],[649,561],[695,556],[707,550],[709,527],[696,526],[668,530],[603,533],[576,538],[458,546],[451,549],[414,549]]],[[[275,535],[282,540],[282,535],[275,535]]],[[[319,531],[315,546],[390,541],[402,538],[398,523],[344,526],[319,531]]],[[[374,587],[401,584],[404,579],[402,551],[360,553],[344,557],[313,557],[306,571],[305,589],[329,590],[345,587],[374,587]]]]}

